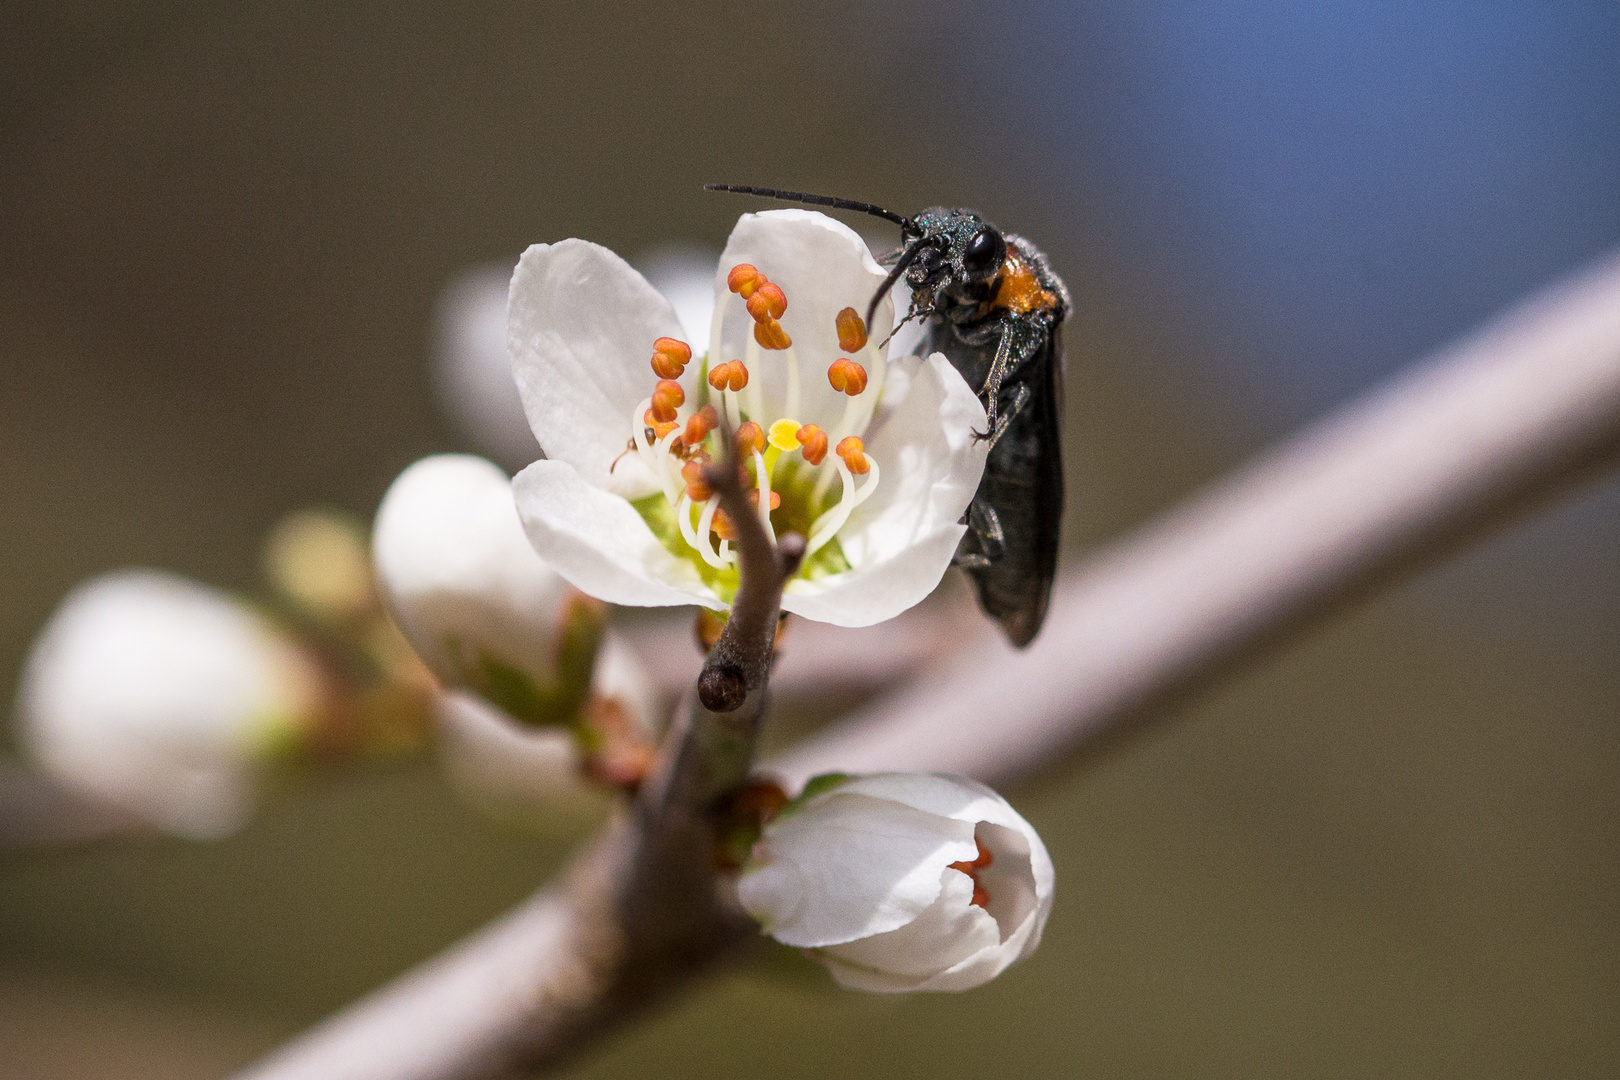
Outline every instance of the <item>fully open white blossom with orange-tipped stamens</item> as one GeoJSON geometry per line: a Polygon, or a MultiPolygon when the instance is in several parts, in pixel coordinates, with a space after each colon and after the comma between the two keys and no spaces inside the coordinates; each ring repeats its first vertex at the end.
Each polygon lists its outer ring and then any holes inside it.
{"type": "Polygon", "coordinates": [[[829,217],[748,214],[714,275],[703,356],[671,304],[606,248],[530,248],[512,277],[507,342],[548,458],[515,481],[536,551],[614,604],[726,609],[735,554],[690,468],[718,452],[724,413],[734,429],[757,424],[745,465],[766,531],[808,539],[784,610],[859,627],[927,596],[964,531],[985,416],[943,356],[888,356],[888,298],[863,325],[883,279],[860,236],[829,217]]]}

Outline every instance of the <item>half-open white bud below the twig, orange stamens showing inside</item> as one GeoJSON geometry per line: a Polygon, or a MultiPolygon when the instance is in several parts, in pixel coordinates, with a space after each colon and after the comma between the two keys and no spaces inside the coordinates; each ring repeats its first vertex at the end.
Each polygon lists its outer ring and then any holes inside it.
{"type": "Polygon", "coordinates": [[[821,777],[768,823],[737,899],[849,989],[961,991],[1040,944],[1053,870],[1024,818],[959,776],[821,777]]]}

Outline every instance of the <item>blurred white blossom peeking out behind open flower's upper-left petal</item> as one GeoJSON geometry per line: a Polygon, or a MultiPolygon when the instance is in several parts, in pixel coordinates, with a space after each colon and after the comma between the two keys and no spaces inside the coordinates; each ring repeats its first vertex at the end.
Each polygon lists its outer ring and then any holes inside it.
{"type": "Polygon", "coordinates": [[[446,283],[434,308],[433,376],[439,403],[462,436],[517,471],[539,457],[539,444],[507,355],[510,288],[510,262],[468,267],[446,283]]]}

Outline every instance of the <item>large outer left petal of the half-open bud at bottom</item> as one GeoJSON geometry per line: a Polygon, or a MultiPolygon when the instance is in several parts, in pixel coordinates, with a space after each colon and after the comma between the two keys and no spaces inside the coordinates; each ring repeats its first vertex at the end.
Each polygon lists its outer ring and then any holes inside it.
{"type": "Polygon", "coordinates": [[[842,789],[766,826],[737,899],[797,947],[897,929],[940,895],[941,871],[977,855],[969,823],[842,789]]]}

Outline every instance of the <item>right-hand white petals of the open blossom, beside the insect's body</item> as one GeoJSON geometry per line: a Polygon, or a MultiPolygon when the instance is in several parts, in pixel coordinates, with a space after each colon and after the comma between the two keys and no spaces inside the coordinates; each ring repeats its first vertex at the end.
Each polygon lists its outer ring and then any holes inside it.
{"type": "Polygon", "coordinates": [[[867,445],[878,489],[850,515],[838,542],[850,570],[797,580],[782,609],[816,622],[868,627],[893,619],[940,585],[966,528],[957,525],[985,471],[985,410],[943,355],[912,359],[904,400],[867,445]]]}

